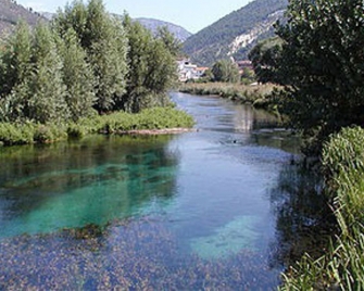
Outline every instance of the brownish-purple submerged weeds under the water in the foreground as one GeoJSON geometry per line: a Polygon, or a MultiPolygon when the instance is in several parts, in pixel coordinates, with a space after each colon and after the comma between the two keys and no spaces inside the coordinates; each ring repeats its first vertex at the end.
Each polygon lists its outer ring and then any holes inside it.
{"type": "Polygon", "coordinates": [[[178,254],[178,242],[163,223],[153,216],[5,239],[0,242],[0,288],[265,290],[276,283],[255,277],[265,266],[249,251],[222,261],[178,254]]]}

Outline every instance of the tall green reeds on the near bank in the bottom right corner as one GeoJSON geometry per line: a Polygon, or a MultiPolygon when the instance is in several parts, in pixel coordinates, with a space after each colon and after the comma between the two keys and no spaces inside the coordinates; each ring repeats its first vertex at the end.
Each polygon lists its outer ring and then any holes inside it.
{"type": "Polygon", "coordinates": [[[338,233],[326,255],[305,255],[281,290],[364,290],[364,129],[344,128],[323,151],[326,194],[338,233]]]}

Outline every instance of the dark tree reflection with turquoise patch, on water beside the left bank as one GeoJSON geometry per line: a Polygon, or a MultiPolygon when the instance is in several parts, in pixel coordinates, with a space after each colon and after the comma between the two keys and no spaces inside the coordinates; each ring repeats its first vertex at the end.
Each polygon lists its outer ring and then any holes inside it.
{"type": "Polygon", "coordinates": [[[178,153],[166,147],[171,138],[95,137],[3,149],[0,236],[103,225],[168,200],[178,165],[178,153]]]}

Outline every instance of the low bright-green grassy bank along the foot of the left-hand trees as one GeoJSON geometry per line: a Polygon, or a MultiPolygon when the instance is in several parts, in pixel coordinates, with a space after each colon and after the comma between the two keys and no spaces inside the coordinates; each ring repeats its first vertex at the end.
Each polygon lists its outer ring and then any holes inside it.
{"type": "Polygon", "coordinates": [[[193,119],[172,107],[154,107],[138,114],[117,112],[96,115],[71,124],[0,123],[3,146],[49,143],[88,134],[125,134],[129,130],[191,128],[193,119]]]}

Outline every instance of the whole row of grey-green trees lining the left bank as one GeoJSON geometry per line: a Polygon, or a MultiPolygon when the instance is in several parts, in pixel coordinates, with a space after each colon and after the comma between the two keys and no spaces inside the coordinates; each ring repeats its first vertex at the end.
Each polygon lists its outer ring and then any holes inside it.
{"type": "Polygon", "coordinates": [[[21,22],[0,45],[0,122],[62,123],[166,105],[179,43],[102,0],[76,0],[51,24],[21,22]]]}

